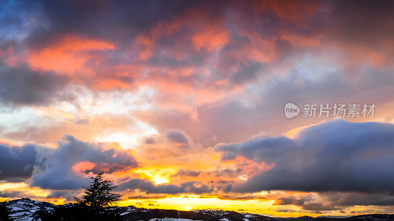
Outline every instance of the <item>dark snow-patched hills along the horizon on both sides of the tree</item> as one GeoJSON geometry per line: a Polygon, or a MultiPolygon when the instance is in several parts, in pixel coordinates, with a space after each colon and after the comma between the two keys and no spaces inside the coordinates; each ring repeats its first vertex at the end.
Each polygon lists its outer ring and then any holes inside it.
{"type": "MultiPolygon", "coordinates": [[[[15,221],[37,221],[39,211],[53,210],[56,205],[34,201],[28,198],[11,200],[5,203],[11,208],[15,221]]],[[[66,207],[66,205],[60,205],[66,207]]],[[[368,214],[347,218],[335,217],[297,217],[274,218],[258,214],[238,213],[224,210],[178,211],[164,209],[145,209],[134,206],[119,207],[124,221],[394,221],[394,214],[368,214]]]]}

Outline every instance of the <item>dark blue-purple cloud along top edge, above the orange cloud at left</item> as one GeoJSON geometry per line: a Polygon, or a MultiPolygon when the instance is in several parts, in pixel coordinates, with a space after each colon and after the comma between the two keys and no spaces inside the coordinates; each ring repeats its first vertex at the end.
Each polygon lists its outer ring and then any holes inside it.
{"type": "MultiPolygon", "coordinates": [[[[179,14],[193,2],[171,0],[161,1],[67,1],[36,2],[20,1],[18,8],[46,21],[44,26],[32,30],[27,38],[29,44],[37,44],[59,34],[78,34],[112,39],[119,44],[126,44],[138,32],[148,30],[158,21],[169,20],[179,14]]],[[[14,9],[15,10],[15,9],[14,9]]],[[[13,11],[10,11],[10,16],[13,11]]],[[[14,16],[15,17],[15,16],[14,16]]],[[[14,27],[24,24],[19,18],[14,27]]]]}

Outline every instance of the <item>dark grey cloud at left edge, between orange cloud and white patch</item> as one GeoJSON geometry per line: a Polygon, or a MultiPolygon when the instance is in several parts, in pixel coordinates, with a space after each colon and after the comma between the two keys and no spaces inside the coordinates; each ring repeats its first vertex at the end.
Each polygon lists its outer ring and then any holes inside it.
{"type": "Polygon", "coordinates": [[[53,72],[33,71],[28,66],[7,66],[0,59],[0,102],[14,105],[44,105],[54,100],[72,100],[60,93],[66,77],[53,72]]]}

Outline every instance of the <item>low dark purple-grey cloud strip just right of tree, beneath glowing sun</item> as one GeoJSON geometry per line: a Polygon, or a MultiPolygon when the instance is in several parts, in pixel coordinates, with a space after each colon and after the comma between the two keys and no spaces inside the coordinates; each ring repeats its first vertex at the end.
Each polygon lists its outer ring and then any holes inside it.
{"type": "Polygon", "coordinates": [[[211,193],[214,191],[213,187],[199,184],[197,182],[185,182],[181,185],[160,184],[154,185],[149,180],[131,179],[119,185],[118,190],[135,190],[139,189],[146,193],[166,193],[166,194],[179,194],[179,193],[211,193]]]}

